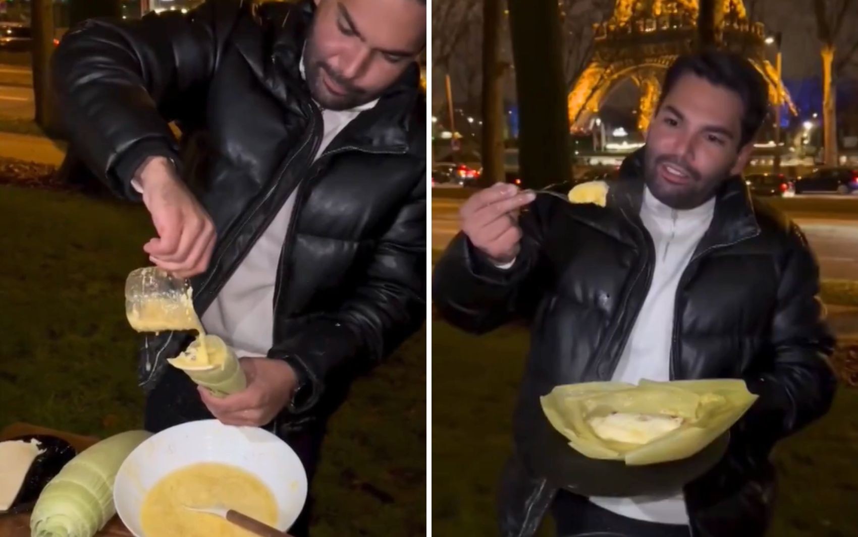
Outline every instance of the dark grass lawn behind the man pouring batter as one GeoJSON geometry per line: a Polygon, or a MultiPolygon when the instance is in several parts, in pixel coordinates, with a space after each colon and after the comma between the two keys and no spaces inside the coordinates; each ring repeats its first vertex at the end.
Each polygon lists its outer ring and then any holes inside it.
{"type": "MultiPolygon", "coordinates": [[[[127,203],[0,185],[0,428],[105,436],[142,425],[124,280],[148,264],[127,203]]],[[[422,332],[355,383],[329,426],[314,535],[426,532],[422,332]]]]}

